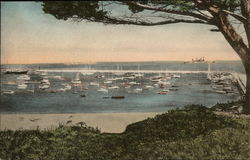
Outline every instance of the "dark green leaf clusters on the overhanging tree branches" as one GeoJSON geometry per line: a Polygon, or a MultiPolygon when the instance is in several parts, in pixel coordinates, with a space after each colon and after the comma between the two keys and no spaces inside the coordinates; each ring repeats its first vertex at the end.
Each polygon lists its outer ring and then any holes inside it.
{"type": "MultiPolygon", "coordinates": [[[[139,13],[145,10],[145,8],[131,3],[130,1],[116,2],[120,2],[120,6],[126,5],[128,10],[132,13],[139,13]]],[[[197,9],[205,10],[204,6],[197,5],[193,0],[137,0],[134,2],[153,6],[164,6],[164,8],[168,7],[178,11],[197,12],[197,9]]],[[[216,5],[221,9],[235,11],[237,7],[240,6],[240,0],[210,0],[209,4],[216,5]]],[[[77,18],[89,21],[100,21],[112,13],[112,11],[108,12],[103,9],[103,6],[106,5],[103,5],[102,1],[43,1],[42,6],[45,13],[63,20],[77,18]]]]}

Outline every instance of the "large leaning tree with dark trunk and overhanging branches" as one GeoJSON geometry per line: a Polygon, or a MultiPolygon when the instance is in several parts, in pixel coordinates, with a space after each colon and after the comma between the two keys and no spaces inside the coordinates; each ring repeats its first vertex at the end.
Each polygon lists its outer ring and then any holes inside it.
{"type": "Polygon", "coordinates": [[[141,26],[197,23],[215,26],[216,29],[211,31],[223,34],[244,65],[247,85],[243,111],[250,114],[250,0],[44,1],[42,6],[45,13],[57,19],[78,22],[87,20],[141,26]]]}

